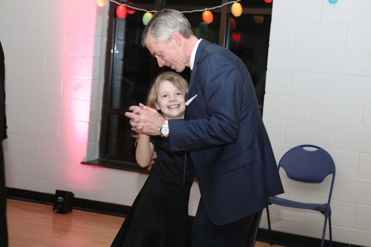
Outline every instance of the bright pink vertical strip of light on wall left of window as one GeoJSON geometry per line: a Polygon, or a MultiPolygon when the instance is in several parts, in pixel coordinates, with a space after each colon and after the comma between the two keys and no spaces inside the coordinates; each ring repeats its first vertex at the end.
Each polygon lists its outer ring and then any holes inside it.
{"type": "MultiPolygon", "coordinates": [[[[95,43],[96,12],[102,11],[95,1],[69,1],[69,12],[64,13],[62,25],[65,33],[65,54],[60,56],[58,73],[63,76],[63,112],[60,139],[65,140],[69,154],[76,161],[61,167],[67,180],[76,184],[92,184],[91,167],[79,164],[86,156],[91,108],[91,89],[94,56],[99,57],[100,42],[95,43]],[[79,147],[79,148],[77,148],[79,147]]],[[[96,58],[96,61],[99,59],[96,58]]],[[[98,131],[98,130],[97,130],[98,131]]]]}

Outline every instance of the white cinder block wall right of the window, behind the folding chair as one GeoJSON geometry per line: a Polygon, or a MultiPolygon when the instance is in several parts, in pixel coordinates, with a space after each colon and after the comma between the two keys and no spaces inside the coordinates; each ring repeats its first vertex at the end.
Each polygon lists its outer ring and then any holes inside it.
{"type": "MultiPolygon", "coordinates": [[[[277,161],[299,144],[331,154],[333,240],[363,246],[371,246],[370,13],[364,0],[273,1],[263,113],[277,161]]],[[[286,198],[326,202],[330,177],[305,187],[282,176],[286,198]]],[[[273,230],[322,236],[320,213],[273,205],[270,214],[273,230]]]]}

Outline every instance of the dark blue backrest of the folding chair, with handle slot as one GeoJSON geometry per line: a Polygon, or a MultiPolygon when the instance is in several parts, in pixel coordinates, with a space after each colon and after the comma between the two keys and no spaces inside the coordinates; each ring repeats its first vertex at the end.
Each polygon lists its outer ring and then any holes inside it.
{"type": "Polygon", "coordinates": [[[335,176],[334,160],[324,149],[314,145],[307,144],[291,148],[279,161],[278,168],[281,166],[289,178],[307,183],[320,183],[331,173],[335,176]],[[318,149],[308,151],[303,147],[318,149]]]}

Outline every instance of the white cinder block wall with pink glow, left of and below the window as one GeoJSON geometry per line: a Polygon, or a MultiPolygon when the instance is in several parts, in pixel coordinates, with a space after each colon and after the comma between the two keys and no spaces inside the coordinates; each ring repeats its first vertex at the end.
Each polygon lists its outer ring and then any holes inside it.
{"type": "MultiPolygon", "coordinates": [[[[109,3],[109,1],[107,1],[109,3]]],[[[80,164],[98,157],[108,6],[2,0],[6,186],[131,205],[146,174],[80,164]]],[[[190,214],[200,193],[192,188],[190,214]]]]}

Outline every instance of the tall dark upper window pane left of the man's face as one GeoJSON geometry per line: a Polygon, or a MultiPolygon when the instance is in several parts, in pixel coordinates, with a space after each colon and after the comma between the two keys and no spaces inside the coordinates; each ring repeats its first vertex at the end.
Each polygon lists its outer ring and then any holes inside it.
{"type": "Polygon", "coordinates": [[[114,109],[128,109],[145,101],[158,66],[147,48],[140,45],[144,24],[142,11],[116,18],[111,101],[114,109]]]}

